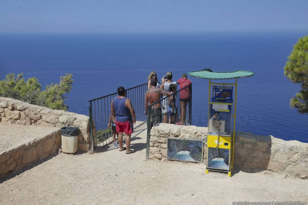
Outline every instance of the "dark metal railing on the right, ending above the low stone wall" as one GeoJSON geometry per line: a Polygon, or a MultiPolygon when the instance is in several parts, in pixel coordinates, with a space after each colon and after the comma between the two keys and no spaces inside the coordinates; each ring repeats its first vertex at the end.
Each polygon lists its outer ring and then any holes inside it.
{"type": "Polygon", "coordinates": [[[150,155],[150,131],[159,123],[191,125],[192,84],[177,90],[171,96],[148,105],[146,160],[150,155]]]}

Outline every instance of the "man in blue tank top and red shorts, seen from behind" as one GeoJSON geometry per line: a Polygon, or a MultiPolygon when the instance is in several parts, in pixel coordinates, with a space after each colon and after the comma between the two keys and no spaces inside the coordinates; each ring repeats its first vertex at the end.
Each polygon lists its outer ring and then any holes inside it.
{"type": "Polygon", "coordinates": [[[126,150],[126,154],[134,153],[134,150],[130,150],[131,134],[133,132],[133,124],[136,123],[136,115],[132,103],[129,98],[126,97],[125,88],[120,86],[118,88],[117,97],[111,101],[111,114],[115,117],[115,129],[119,132],[118,142],[120,145],[120,151],[126,150]],[[123,147],[123,133],[125,137],[126,148],[123,147]]]}

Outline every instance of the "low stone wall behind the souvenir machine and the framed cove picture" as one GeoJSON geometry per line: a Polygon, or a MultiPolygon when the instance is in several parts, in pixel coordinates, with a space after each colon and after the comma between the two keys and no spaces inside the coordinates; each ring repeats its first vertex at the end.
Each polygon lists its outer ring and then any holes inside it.
{"type": "MultiPolygon", "coordinates": [[[[163,124],[153,127],[150,138],[150,159],[166,160],[167,138],[207,142],[207,128],[163,124]]],[[[285,176],[308,179],[308,144],[285,141],[273,136],[236,132],[234,166],[245,172],[272,171],[285,176]]],[[[207,148],[204,146],[204,162],[207,148]]]]}

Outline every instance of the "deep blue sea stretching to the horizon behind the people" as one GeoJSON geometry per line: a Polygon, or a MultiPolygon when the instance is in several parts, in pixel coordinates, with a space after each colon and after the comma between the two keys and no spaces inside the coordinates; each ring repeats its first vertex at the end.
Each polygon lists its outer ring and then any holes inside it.
{"type": "MultiPolygon", "coordinates": [[[[89,115],[88,100],[161,78],[211,68],[255,72],[238,80],[236,130],[308,142],[308,115],[289,106],[300,90],[283,74],[298,38],[307,32],[202,34],[0,34],[0,79],[37,77],[44,88],[73,74],[69,111],[89,115]]],[[[207,126],[208,80],[193,82],[192,124],[207,126]]],[[[221,81],[217,81],[221,82],[221,81]]]]}

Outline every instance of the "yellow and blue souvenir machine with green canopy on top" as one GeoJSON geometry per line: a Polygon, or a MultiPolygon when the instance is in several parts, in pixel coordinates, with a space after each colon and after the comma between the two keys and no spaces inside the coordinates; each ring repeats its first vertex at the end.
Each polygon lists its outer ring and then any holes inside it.
{"type": "Polygon", "coordinates": [[[224,171],[231,176],[234,160],[237,78],[250,77],[254,73],[244,70],[213,72],[211,69],[203,69],[188,74],[209,79],[206,173],[209,173],[209,170],[224,171]],[[211,81],[213,79],[215,82],[211,81]],[[223,79],[235,79],[235,82],[218,81],[223,79]]]}

